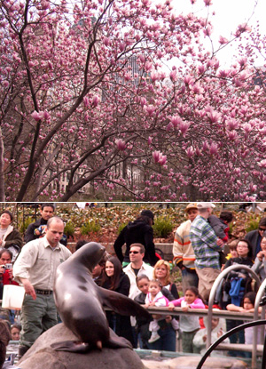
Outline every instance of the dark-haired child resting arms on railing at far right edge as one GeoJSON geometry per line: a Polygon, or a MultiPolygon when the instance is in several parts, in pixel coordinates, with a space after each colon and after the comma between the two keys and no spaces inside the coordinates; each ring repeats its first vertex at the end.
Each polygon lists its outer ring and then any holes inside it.
{"type": "MultiPolygon", "coordinates": [[[[246,312],[246,313],[254,313],[254,301],[256,299],[256,293],[250,292],[246,293],[243,299],[243,306],[237,306],[234,304],[227,305],[226,309],[229,311],[240,311],[240,312],[246,312]]],[[[262,312],[262,308],[259,308],[259,312],[262,312]]],[[[258,335],[257,335],[257,342],[260,342],[261,332],[262,332],[262,326],[258,327],[258,335]]],[[[252,344],[253,343],[253,333],[254,333],[254,327],[248,327],[245,329],[245,343],[246,344],[252,344]]],[[[246,352],[246,357],[251,357],[250,352],[246,352]]]]}

